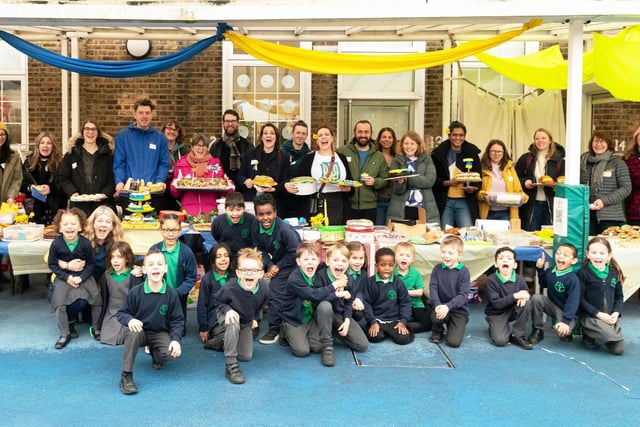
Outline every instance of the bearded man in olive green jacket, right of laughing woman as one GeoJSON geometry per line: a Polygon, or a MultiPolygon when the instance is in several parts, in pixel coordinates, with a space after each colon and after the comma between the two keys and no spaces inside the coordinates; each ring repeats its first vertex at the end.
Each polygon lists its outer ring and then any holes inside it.
{"type": "Polygon", "coordinates": [[[371,139],[373,129],[368,120],[359,120],[353,129],[351,144],[338,149],[349,162],[353,179],[362,182],[362,187],[353,189],[349,197],[350,209],[346,209],[347,219],[376,220],[378,192],[387,186],[385,178],[389,175],[389,167],[384,155],[376,149],[371,139]]]}

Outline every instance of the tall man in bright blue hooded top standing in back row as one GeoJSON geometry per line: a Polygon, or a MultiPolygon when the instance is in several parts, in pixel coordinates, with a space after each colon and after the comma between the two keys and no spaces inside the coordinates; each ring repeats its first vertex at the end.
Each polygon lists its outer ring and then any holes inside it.
{"type": "MultiPolygon", "coordinates": [[[[151,124],[155,108],[150,99],[136,101],[133,104],[134,121],[116,136],[113,175],[123,208],[129,204],[129,195],[123,193],[129,178],[157,184],[162,193],[167,186],[169,143],[167,137],[151,124]]],[[[151,205],[157,211],[165,209],[164,195],[152,195],[151,205]]]]}

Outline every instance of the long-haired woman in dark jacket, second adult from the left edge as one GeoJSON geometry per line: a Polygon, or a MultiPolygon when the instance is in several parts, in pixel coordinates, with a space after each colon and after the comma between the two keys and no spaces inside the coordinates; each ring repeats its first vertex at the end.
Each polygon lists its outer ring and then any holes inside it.
{"type": "Polygon", "coordinates": [[[31,194],[33,221],[49,225],[58,209],[66,205],[58,176],[62,147],[50,132],[40,132],[34,145],[33,153],[24,161],[20,191],[31,194]]]}

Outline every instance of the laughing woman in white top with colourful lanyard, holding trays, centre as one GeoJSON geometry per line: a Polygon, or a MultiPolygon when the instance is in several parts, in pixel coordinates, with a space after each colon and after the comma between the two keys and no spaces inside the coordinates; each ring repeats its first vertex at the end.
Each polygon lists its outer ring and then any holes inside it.
{"type": "MultiPolygon", "coordinates": [[[[347,158],[335,151],[333,130],[329,126],[320,126],[316,130],[316,135],[317,139],[314,145],[317,150],[303,157],[295,172],[296,176],[313,177],[317,189],[317,193],[304,197],[304,199],[301,197],[299,216],[309,219],[315,214],[309,212],[309,205],[310,199],[317,197],[319,204],[327,207],[329,224],[344,224],[344,209],[348,206],[347,196],[353,187],[338,185],[337,182],[348,183],[353,179],[347,158]],[[327,180],[327,182],[320,182],[321,179],[327,180]]],[[[287,182],[285,189],[291,194],[298,193],[297,185],[292,182],[287,182]]],[[[324,207],[319,209],[319,212],[324,214],[324,207]]]]}

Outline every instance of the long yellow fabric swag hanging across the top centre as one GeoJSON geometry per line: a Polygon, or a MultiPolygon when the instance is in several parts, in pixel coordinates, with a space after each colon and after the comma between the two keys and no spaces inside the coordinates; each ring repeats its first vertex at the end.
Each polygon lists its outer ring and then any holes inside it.
{"type": "Polygon", "coordinates": [[[235,46],[253,57],[283,68],[317,74],[388,74],[458,61],[498,46],[540,24],[541,19],[532,19],[518,30],[508,31],[487,40],[470,41],[446,50],[403,55],[319,52],[256,40],[229,31],[224,35],[235,46]]]}

